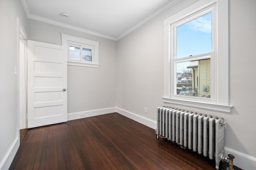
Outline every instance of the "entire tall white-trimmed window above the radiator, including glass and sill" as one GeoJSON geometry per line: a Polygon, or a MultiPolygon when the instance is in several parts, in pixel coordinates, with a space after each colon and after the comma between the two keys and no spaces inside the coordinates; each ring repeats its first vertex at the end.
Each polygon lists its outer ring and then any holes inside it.
{"type": "Polygon", "coordinates": [[[199,0],[164,20],[165,104],[230,112],[227,9],[199,0]]]}

